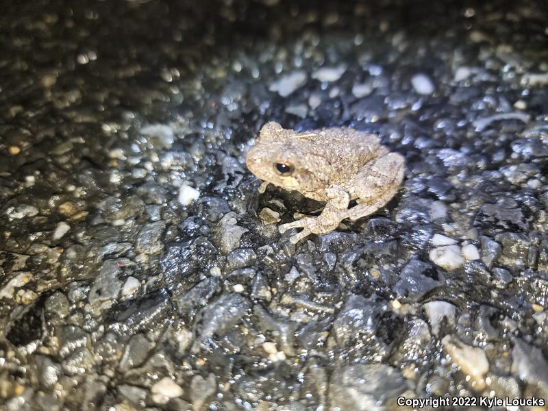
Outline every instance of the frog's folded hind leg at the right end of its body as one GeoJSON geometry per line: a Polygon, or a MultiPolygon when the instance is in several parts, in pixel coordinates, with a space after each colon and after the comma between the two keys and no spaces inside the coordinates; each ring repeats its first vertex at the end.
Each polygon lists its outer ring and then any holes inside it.
{"type": "Polygon", "coordinates": [[[361,219],[388,203],[403,181],[404,164],[398,153],[388,153],[367,164],[354,179],[357,204],[345,211],[344,218],[361,219]]]}

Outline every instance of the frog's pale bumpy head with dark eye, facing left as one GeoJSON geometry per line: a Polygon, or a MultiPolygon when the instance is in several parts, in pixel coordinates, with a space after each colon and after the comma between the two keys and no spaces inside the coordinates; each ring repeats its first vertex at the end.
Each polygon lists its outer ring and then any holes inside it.
{"type": "Polygon", "coordinates": [[[292,130],[266,123],[245,162],[249,171],[265,182],[286,190],[313,191],[316,184],[308,161],[308,145],[310,141],[292,130]]]}

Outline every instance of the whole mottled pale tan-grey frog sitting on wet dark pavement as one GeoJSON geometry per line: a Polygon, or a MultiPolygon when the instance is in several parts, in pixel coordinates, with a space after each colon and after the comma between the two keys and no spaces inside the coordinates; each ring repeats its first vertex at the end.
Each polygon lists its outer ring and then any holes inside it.
{"type": "Polygon", "coordinates": [[[247,168],[268,184],[297,190],[314,200],[327,201],[317,217],[279,226],[279,232],[301,227],[290,238],[297,243],[310,234],[326,234],[343,219],[356,220],[384,206],[403,180],[405,160],[390,153],[373,134],[349,128],[297,133],[278,123],[266,123],[246,158],[247,168]],[[279,171],[279,165],[282,169],[279,171]],[[348,208],[351,200],[357,204],[348,208]]]}

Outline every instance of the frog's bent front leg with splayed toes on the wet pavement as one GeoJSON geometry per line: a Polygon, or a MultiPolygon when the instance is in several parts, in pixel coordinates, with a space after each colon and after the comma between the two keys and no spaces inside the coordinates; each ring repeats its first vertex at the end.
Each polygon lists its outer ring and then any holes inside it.
{"type": "Polygon", "coordinates": [[[290,242],[297,244],[310,234],[326,234],[336,229],[340,221],[345,219],[350,195],[341,186],[329,186],[326,194],[328,200],[319,216],[305,217],[292,223],[282,224],[278,227],[279,232],[284,233],[288,229],[303,228],[303,231],[289,238],[290,242]]]}

